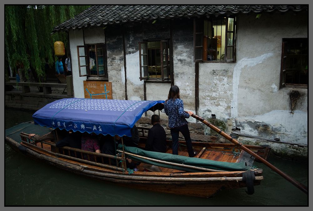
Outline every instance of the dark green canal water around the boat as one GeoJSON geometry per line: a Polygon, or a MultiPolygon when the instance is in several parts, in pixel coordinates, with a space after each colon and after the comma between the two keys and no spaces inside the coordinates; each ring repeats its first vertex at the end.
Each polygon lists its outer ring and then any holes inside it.
{"type": "MultiPolygon", "coordinates": [[[[35,111],[5,109],[5,129],[31,121],[35,111]]],[[[308,184],[308,165],[269,158],[269,162],[302,184],[308,184]]],[[[264,180],[246,188],[222,190],[212,198],[138,190],[85,178],[36,162],[5,144],[6,206],[308,206],[308,195],[262,163],[264,180]]]]}

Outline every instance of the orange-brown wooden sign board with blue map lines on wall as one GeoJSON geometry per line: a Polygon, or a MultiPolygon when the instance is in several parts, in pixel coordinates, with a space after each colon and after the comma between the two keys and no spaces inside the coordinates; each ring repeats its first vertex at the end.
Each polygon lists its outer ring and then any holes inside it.
{"type": "Polygon", "coordinates": [[[84,81],[85,98],[112,99],[112,82],[84,81]]]}

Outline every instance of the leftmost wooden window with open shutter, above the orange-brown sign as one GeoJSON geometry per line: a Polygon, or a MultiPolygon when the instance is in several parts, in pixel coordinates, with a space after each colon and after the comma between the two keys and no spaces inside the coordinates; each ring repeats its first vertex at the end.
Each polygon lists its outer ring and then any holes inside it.
{"type": "Polygon", "coordinates": [[[87,78],[102,78],[102,79],[108,79],[108,71],[107,71],[107,54],[106,54],[106,46],[104,43],[99,43],[99,44],[90,44],[90,45],[79,45],[77,46],[77,57],[78,57],[78,68],[79,68],[79,76],[83,77],[83,76],[87,76],[87,78]],[[90,47],[95,46],[95,63],[96,63],[96,71],[97,74],[96,75],[92,75],[91,74],[91,70],[90,70],[90,56],[89,56],[89,49],[90,47]],[[80,48],[84,48],[84,55],[80,55],[80,48]],[[102,52],[103,55],[103,64],[99,65],[99,61],[98,61],[98,49],[102,48],[102,52]],[[80,58],[85,58],[85,65],[81,65],[80,64],[80,58]],[[81,67],[85,67],[86,68],[86,74],[81,74],[81,67]],[[103,67],[103,74],[100,75],[99,73],[99,67],[103,67]]]}

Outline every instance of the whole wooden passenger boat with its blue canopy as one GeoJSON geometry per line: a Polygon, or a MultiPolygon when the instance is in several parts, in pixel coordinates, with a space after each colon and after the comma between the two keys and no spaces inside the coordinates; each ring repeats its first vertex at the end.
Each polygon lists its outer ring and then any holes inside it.
{"type": "MultiPolygon", "coordinates": [[[[210,197],[225,188],[247,187],[247,193],[252,194],[253,186],[259,185],[263,179],[262,169],[254,168],[254,157],[233,143],[192,142],[198,153],[194,158],[188,157],[184,141],[179,141],[179,155],[172,155],[171,140],[167,140],[166,153],[149,152],[143,150],[149,128],[138,128],[138,147],[121,144],[116,155],[56,147],[59,129],[131,136],[130,130],[141,115],[148,110],[162,109],[163,102],[78,98],[57,100],[38,110],[33,115],[34,123],[21,123],[7,129],[5,140],[11,148],[25,156],[118,185],[197,197],[210,197]],[[91,122],[92,119],[94,121],[91,122]],[[35,143],[28,139],[29,133],[43,135],[52,130],[56,132],[55,140],[35,143]],[[69,156],[70,152],[74,152],[74,156],[69,156]],[[88,159],[78,158],[79,154],[81,158],[84,154],[88,155],[88,159]],[[140,162],[137,171],[126,168],[126,157],[140,162]]],[[[259,158],[266,160],[269,157],[269,146],[244,146],[259,158]]]]}

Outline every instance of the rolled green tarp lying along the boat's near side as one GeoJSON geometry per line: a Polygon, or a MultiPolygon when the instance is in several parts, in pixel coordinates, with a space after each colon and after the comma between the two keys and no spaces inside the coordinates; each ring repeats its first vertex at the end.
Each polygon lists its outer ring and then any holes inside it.
{"type": "MultiPolygon", "coordinates": [[[[123,150],[122,144],[118,145],[118,149],[123,150]]],[[[228,163],[228,162],[207,160],[207,159],[202,159],[202,158],[190,158],[190,157],[186,157],[182,155],[173,155],[169,153],[146,151],[146,150],[136,148],[136,147],[124,146],[124,150],[125,152],[148,157],[148,158],[167,161],[171,163],[180,163],[180,164],[185,164],[185,165],[190,165],[190,166],[196,166],[196,167],[201,167],[201,168],[210,168],[210,169],[223,170],[223,171],[246,171],[249,169],[249,167],[247,167],[244,162],[228,163]]],[[[138,157],[128,155],[128,154],[126,155],[126,157],[131,158],[132,160],[135,160],[137,162],[148,163],[151,165],[161,166],[165,168],[173,168],[173,169],[187,171],[187,172],[205,172],[204,170],[175,166],[175,165],[165,164],[165,163],[159,163],[156,161],[151,161],[151,160],[147,160],[144,158],[138,158],[138,157]]]]}

